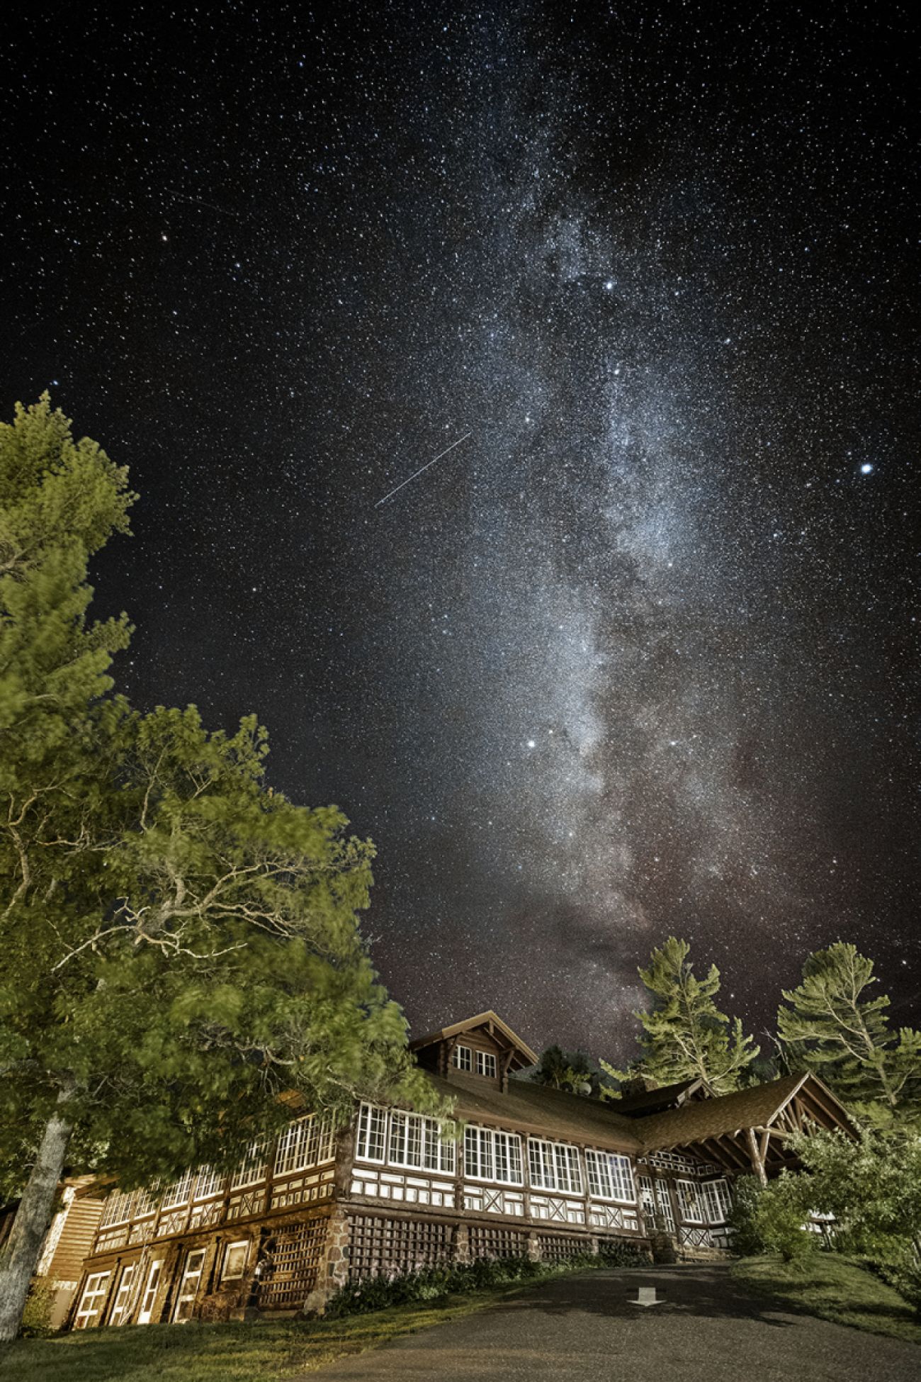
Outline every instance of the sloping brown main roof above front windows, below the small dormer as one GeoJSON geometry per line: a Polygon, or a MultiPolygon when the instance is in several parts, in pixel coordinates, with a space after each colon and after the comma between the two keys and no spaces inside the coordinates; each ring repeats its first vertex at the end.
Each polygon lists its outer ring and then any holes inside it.
{"type": "MultiPolygon", "coordinates": [[[[428,1074],[428,1072],[427,1072],[428,1074]]],[[[562,1089],[548,1089],[527,1079],[510,1079],[508,1090],[460,1086],[428,1074],[439,1095],[454,1103],[458,1118],[496,1128],[514,1128],[561,1142],[587,1142],[612,1151],[639,1153],[642,1124],[613,1113],[613,1104],[562,1089]]]]}

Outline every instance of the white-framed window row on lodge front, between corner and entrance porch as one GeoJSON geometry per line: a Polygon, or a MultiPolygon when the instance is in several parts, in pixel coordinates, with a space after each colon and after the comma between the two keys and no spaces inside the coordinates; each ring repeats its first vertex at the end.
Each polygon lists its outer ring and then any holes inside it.
{"type": "MultiPolygon", "coordinates": [[[[355,1155],[359,1161],[435,1171],[454,1175],[454,1143],[442,1136],[438,1121],[377,1104],[362,1104],[358,1117],[355,1155]],[[389,1118],[389,1135],[388,1135],[389,1118]]],[[[588,1193],[598,1200],[634,1204],[632,1168],[628,1157],[610,1151],[585,1151],[588,1193]]],[[[527,1139],[529,1184],[534,1190],[556,1190],[581,1195],[583,1171],[579,1147],[545,1137],[527,1139]]],[[[498,1180],[505,1186],[525,1184],[522,1139],[494,1128],[464,1129],[464,1175],[469,1180],[498,1180]]]]}

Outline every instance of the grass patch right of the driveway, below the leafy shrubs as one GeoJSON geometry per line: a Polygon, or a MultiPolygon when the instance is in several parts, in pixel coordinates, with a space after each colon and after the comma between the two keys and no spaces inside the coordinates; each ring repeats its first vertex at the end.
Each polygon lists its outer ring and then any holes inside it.
{"type": "Polygon", "coordinates": [[[732,1267],[743,1285],[777,1296],[834,1324],[921,1343],[921,1323],[898,1291],[856,1262],[833,1252],[812,1252],[801,1262],[777,1256],[743,1258],[732,1267]]]}

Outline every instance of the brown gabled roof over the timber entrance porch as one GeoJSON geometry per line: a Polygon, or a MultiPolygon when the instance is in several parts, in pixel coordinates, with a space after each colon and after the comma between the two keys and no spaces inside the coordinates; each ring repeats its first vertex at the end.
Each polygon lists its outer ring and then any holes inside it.
{"type": "Polygon", "coordinates": [[[648,1151],[689,1147],[710,1137],[735,1136],[744,1128],[766,1128],[794,1095],[805,1096],[826,1118],[848,1132],[855,1132],[846,1110],[815,1075],[784,1075],[769,1085],[753,1085],[733,1095],[688,1100],[681,1108],[668,1108],[639,1119],[634,1126],[648,1151]]]}

